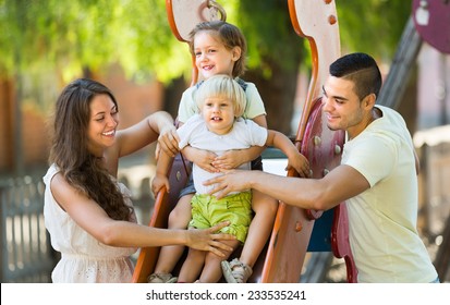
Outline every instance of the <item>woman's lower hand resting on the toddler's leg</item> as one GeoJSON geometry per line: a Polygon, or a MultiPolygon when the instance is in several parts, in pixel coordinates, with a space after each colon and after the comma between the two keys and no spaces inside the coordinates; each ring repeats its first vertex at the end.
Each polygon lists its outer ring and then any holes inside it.
{"type": "Polygon", "coordinates": [[[230,222],[226,221],[226,222],[216,224],[215,227],[211,227],[209,229],[187,230],[186,245],[188,247],[199,249],[199,251],[209,251],[216,254],[217,256],[224,257],[226,256],[224,253],[229,254],[230,252],[233,251],[233,248],[222,243],[221,241],[233,241],[235,240],[235,236],[231,234],[217,233],[217,231],[219,231],[220,229],[229,224],[230,222]]]}

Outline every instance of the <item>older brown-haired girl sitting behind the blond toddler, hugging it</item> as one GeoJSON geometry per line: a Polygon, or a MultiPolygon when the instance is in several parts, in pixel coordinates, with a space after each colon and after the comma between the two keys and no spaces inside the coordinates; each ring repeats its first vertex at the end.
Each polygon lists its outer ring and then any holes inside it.
{"type": "MultiPolygon", "coordinates": [[[[245,90],[246,106],[244,119],[251,119],[263,127],[267,127],[266,112],[263,100],[252,83],[240,78],[245,72],[246,41],[241,30],[227,22],[212,21],[198,24],[191,33],[191,52],[195,56],[195,64],[202,80],[207,80],[216,74],[224,74],[236,78],[245,90]]],[[[182,96],[179,108],[180,124],[186,122],[198,112],[193,95],[196,86],[187,88],[182,96]]],[[[171,134],[161,134],[161,139],[172,141],[171,134]]],[[[229,150],[217,156],[207,150],[198,150],[186,147],[183,155],[209,172],[220,169],[233,169],[240,164],[253,161],[252,169],[263,170],[260,154],[263,147],[253,146],[247,149],[229,150]]],[[[301,172],[307,176],[307,172],[301,172]]],[[[191,184],[192,185],[192,184],[191,184]]],[[[169,216],[169,228],[184,229],[191,219],[191,198],[195,193],[193,186],[184,188],[180,194],[180,200],[169,216]]],[[[248,236],[243,247],[240,259],[230,264],[224,261],[224,277],[228,282],[246,282],[252,274],[252,268],[259,253],[265,246],[275,221],[278,202],[260,192],[252,191],[252,209],[255,217],[248,230],[248,236]]],[[[159,254],[155,272],[150,274],[149,282],[174,282],[171,272],[183,254],[183,247],[162,247],[159,254]]]]}

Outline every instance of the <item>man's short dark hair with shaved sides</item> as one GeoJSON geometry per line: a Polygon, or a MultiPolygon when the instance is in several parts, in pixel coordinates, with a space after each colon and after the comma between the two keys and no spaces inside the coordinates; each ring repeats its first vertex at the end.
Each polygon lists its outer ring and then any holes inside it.
{"type": "Polygon", "coordinates": [[[330,65],[330,75],[350,80],[362,100],[369,94],[378,97],[381,88],[381,73],[376,61],[366,53],[351,53],[336,60],[330,65]]]}

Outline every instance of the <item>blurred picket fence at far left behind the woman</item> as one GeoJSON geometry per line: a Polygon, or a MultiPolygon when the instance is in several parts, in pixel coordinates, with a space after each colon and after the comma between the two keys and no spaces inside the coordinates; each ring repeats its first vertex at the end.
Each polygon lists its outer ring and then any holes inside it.
{"type": "Polygon", "coordinates": [[[25,176],[0,184],[1,282],[49,282],[57,254],[44,225],[44,183],[25,176]]]}

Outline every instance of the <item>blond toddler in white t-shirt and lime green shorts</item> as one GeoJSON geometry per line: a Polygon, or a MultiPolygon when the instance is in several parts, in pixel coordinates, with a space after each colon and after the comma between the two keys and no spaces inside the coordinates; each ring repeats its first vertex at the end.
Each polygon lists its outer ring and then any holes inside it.
{"type": "MultiPolygon", "coordinates": [[[[292,142],[283,134],[268,131],[252,120],[242,119],[246,105],[245,93],[232,77],[223,74],[215,75],[205,81],[196,91],[195,101],[200,114],[194,114],[179,130],[180,149],[190,145],[202,150],[212,151],[220,156],[230,149],[245,149],[253,145],[275,146],[281,149],[289,159],[288,167],[297,171],[307,168],[307,160],[292,142]]],[[[161,154],[154,179],[155,191],[163,186],[170,187],[167,176],[170,158],[161,154]]],[[[250,169],[245,162],[240,169],[250,169]]],[[[245,242],[248,225],[252,220],[251,190],[232,193],[217,199],[209,195],[211,186],[205,187],[203,182],[220,173],[205,171],[194,163],[193,180],[196,193],[192,198],[192,219],[188,228],[206,229],[221,221],[229,220],[230,225],[221,229],[223,233],[236,236],[236,241],[228,244],[235,249],[245,242]]],[[[231,254],[228,253],[227,256],[231,254]]],[[[220,263],[223,258],[204,251],[190,248],[187,258],[181,268],[179,282],[218,282],[222,277],[220,263]]]]}

